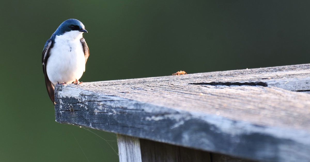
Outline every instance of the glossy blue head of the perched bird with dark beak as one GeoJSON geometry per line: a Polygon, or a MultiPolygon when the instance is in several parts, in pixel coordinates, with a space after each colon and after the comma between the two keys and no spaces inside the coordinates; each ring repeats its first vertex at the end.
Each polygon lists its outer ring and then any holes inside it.
{"type": "Polygon", "coordinates": [[[68,19],[60,24],[54,34],[62,35],[68,31],[81,31],[87,33],[82,22],[78,21],[77,19],[68,19]]]}

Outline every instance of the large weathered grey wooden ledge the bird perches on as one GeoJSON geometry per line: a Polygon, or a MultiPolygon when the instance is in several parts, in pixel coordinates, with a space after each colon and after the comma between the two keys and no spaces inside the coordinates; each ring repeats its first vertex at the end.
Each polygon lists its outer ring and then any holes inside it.
{"type": "Polygon", "coordinates": [[[252,160],[308,161],[310,96],[291,91],[310,89],[309,67],[60,85],[56,121],[252,160]]]}

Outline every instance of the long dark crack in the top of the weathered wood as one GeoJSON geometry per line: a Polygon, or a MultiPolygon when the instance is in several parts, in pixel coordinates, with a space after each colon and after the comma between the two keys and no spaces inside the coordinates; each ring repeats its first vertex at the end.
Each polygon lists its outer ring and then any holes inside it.
{"type": "Polygon", "coordinates": [[[209,82],[209,83],[206,83],[206,82],[201,82],[201,83],[188,83],[188,84],[193,84],[193,85],[214,85],[214,86],[217,86],[217,85],[226,85],[226,86],[232,86],[232,85],[238,85],[238,86],[241,86],[241,85],[250,85],[250,86],[263,86],[263,87],[268,87],[268,84],[265,83],[265,82],[262,82],[262,81],[259,81],[259,82],[209,82]]]}

